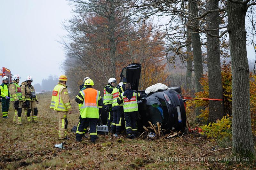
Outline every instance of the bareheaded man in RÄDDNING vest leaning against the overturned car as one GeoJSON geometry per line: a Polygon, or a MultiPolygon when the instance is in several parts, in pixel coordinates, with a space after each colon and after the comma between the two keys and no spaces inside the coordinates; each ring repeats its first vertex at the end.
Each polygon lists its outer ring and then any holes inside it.
{"type": "Polygon", "coordinates": [[[118,104],[123,104],[124,120],[127,138],[133,139],[137,135],[137,99],[144,97],[144,94],[131,89],[131,84],[125,84],[125,91],[117,98],[118,104]]]}

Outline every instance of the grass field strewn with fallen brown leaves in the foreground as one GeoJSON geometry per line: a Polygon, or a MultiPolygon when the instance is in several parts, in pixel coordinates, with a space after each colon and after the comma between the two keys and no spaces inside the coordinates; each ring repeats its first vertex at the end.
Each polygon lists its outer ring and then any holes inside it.
{"type": "MultiPolygon", "coordinates": [[[[64,148],[57,133],[57,115],[50,110],[51,96],[39,94],[38,123],[22,126],[0,118],[0,169],[253,169],[255,164],[228,161],[231,150],[216,151],[216,142],[194,133],[171,139],[126,139],[125,136],[99,135],[96,144],[89,138],[77,143],[71,128],[78,123],[78,107],[71,101],[73,114],[68,115],[68,136],[64,148]]],[[[1,106],[0,106],[1,107],[1,106]]],[[[24,113],[24,111],[22,111],[24,113]]],[[[88,136],[88,134],[87,134],[88,136]]],[[[230,141],[221,147],[230,146],[230,141]]]]}

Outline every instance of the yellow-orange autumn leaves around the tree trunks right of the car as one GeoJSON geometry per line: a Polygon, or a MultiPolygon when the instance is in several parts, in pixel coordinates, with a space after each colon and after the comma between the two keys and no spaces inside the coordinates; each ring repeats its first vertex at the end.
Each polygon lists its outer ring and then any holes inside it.
{"type": "MultiPolygon", "coordinates": [[[[231,66],[230,64],[223,63],[221,66],[221,75],[222,75],[222,87],[223,87],[223,98],[224,98],[224,109],[225,109],[225,118],[222,120],[217,120],[216,123],[205,125],[203,130],[209,131],[212,133],[214,127],[222,127],[222,129],[227,130],[230,129],[232,119],[232,77],[231,77],[231,66]],[[226,127],[223,128],[223,124],[226,127]],[[211,130],[209,128],[211,127],[211,130]]],[[[250,74],[250,110],[251,110],[251,120],[252,120],[252,132],[256,134],[256,75],[250,74]]],[[[209,98],[209,87],[208,87],[208,76],[207,74],[200,81],[201,85],[203,86],[203,91],[196,93],[196,98],[209,98]]],[[[199,117],[202,121],[206,122],[208,120],[209,115],[209,101],[202,101],[202,100],[189,100],[187,102],[187,111],[194,112],[196,107],[203,106],[204,109],[201,110],[201,114],[199,117]]],[[[232,125],[231,125],[232,126],[232,125]]],[[[214,130],[213,130],[214,131],[214,130]]],[[[206,132],[207,133],[207,132],[206,132]]],[[[216,132],[220,133],[220,132],[216,132]]],[[[224,133],[224,132],[223,132],[224,133]]]]}

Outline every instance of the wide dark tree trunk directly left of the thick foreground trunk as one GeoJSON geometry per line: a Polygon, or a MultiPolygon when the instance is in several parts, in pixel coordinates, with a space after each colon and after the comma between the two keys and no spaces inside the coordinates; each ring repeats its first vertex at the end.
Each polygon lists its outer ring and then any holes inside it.
{"type": "MultiPolygon", "coordinates": [[[[218,9],[218,0],[207,0],[206,11],[218,9]]],[[[206,16],[208,29],[216,29],[220,26],[219,12],[209,13],[206,16]]],[[[212,35],[219,35],[219,30],[210,31],[212,35]]],[[[209,98],[223,99],[221,69],[220,69],[220,39],[207,35],[207,66],[209,82],[209,98]]],[[[208,123],[216,122],[224,116],[223,101],[209,101],[208,123]]]]}

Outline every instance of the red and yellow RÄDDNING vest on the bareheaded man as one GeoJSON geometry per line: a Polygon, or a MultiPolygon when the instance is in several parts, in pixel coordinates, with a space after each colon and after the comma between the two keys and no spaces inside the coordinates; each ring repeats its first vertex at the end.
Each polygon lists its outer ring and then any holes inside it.
{"type": "Polygon", "coordinates": [[[137,94],[135,92],[133,92],[131,99],[124,96],[124,92],[121,93],[121,96],[123,98],[124,112],[135,112],[139,110],[137,104],[137,94]]]}

